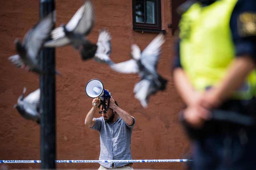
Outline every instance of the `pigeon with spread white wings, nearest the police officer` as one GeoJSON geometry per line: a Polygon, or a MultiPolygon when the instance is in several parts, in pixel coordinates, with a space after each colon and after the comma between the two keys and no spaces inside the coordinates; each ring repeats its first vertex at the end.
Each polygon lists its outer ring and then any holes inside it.
{"type": "Polygon", "coordinates": [[[154,40],[141,52],[136,44],[131,46],[130,60],[110,65],[120,73],[138,73],[141,81],[135,84],[133,92],[135,98],[146,108],[149,96],[159,90],[165,89],[167,80],[157,73],[157,62],[160,57],[161,46],[164,43],[164,35],[157,35],[154,40]]]}

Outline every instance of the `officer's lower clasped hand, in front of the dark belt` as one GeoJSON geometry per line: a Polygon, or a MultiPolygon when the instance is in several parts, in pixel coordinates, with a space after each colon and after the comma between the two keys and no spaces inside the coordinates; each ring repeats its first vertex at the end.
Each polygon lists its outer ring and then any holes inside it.
{"type": "Polygon", "coordinates": [[[203,127],[204,122],[211,118],[211,112],[201,106],[189,106],[184,111],[184,119],[191,127],[199,129],[203,127]]]}

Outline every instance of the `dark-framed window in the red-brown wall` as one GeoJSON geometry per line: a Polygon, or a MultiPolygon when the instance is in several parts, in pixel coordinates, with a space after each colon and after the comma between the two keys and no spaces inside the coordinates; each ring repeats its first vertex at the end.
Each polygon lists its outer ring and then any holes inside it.
{"type": "Polygon", "coordinates": [[[161,0],[133,0],[133,30],[162,32],[161,0]]]}

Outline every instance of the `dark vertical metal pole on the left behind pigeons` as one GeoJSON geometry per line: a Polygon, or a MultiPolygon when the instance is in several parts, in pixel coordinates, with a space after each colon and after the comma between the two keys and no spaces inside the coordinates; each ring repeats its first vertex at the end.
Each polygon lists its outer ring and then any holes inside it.
{"type": "MultiPolygon", "coordinates": [[[[40,0],[40,18],[55,10],[55,0],[40,0]]],[[[55,49],[43,48],[40,64],[45,72],[40,75],[41,89],[41,168],[55,169],[55,49]]]]}

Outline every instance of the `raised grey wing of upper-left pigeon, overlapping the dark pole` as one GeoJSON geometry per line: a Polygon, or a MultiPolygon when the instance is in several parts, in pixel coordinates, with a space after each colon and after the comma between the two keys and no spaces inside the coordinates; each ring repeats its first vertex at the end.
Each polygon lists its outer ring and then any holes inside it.
{"type": "Polygon", "coordinates": [[[44,44],[44,41],[49,38],[53,28],[53,14],[50,13],[39,21],[32,29],[28,31],[23,40],[23,45],[28,52],[29,57],[37,63],[37,56],[44,44]]]}

